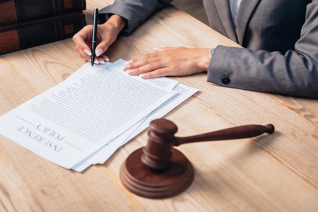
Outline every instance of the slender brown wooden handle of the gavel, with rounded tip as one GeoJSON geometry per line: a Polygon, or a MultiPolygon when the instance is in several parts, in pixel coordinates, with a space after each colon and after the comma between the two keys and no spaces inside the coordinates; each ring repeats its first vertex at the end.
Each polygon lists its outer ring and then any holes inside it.
{"type": "Polygon", "coordinates": [[[188,137],[176,137],[173,146],[179,146],[181,144],[193,142],[207,142],[214,140],[230,140],[255,137],[265,132],[271,134],[274,132],[274,129],[274,125],[272,124],[267,124],[265,126],[257,124],[243,125],[188,137]]]}

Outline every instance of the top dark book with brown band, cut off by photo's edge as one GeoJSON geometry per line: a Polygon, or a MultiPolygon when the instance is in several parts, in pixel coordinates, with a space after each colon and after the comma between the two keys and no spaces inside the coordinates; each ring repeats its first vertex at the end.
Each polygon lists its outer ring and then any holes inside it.
{"type": "Polygon", "coordinates": [[[0,25],[86,10],[85,0],[0,0],[0,25]]]}

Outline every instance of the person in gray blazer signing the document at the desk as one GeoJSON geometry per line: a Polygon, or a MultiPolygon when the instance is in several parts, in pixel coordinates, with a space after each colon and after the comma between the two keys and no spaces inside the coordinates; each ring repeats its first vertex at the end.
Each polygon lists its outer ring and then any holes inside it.
{"type": "MultiPolygon", "coordinates": [[[[95,63],[108,61],[104,53],[118,34],[128,36],[171,1],[116,0],[102,9],[95,63]]],[[[207,72],[208,82],[222,86],[318,98],[318,0],[203,0],[203,4],[210,26],[244,48],[160,48],[131,59],[123,70],[145,79],[207,72]]],[[[91,32],[88,25],[73,37],[76,50],[88,61],[91,32]]]]}

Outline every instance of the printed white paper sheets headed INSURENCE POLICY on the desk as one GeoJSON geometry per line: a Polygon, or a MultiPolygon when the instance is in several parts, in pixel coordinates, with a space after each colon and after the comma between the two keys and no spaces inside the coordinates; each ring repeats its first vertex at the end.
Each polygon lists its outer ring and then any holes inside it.
{"type": "Polygon", "coordinates": [[[124,60],[91,67],[0,117],[0,134],[62,167],[83,171],[198,89],[168,78],[150,80],[121,70],[124,60]]]}

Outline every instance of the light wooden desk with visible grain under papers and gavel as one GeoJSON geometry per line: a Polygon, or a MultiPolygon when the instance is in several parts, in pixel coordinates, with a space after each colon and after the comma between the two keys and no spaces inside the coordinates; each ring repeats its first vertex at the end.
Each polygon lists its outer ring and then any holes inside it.
{"type": "MultiPolygon", "coordinates": [[[[87,23],[95,6],[88,0],[87,23]]],[[[155,14],[108,50],[111,61],[153,47],[208,48],[235,44],[173,7],[155,14]],[[189,30],[192,29],[192,30],[189,30]],[[193,30],[195,29],[195,30],[193,30]],[[190,31],[190,33],[188,33],[190,31]]],[[[62,82],[85,61],[71,39],[0,56],[0,115],[62,82]]],[[[59,167],[0,136],[0,211],[317,211],[318,101],[243,91],[206,82],[206,74],[175,77],[200,91],[165,118],[177,136],[272,123],[276,131],[252,139],[181,145],[195,180],[168,199],[146,199],[126,190],[119,167],[141,133],[105,164],[82,173],[59,167]]]]}

